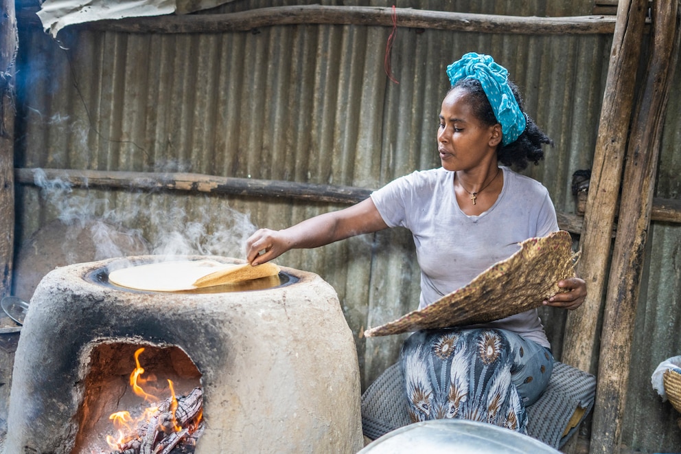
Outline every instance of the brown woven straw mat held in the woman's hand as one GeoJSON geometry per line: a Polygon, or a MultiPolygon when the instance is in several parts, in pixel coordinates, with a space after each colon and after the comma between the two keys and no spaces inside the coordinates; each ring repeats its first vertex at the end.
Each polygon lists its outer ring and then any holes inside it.
{"type": "Polygon", "coordinates": [[[565,291],[557,286],[559,280],[574,275],[575,254],[567,231],[529,238],[513,256],[490,266],[469,284],[364,334],[386,336],[503,319],[542,306],[545,299],[565,291]]]}

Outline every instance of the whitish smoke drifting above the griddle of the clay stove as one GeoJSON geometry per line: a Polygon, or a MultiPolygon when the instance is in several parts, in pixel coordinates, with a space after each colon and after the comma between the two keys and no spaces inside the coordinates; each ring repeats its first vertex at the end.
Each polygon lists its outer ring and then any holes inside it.
{"type": "Polygon", "coordinates": [[[158,260],[240,258],[255,231],[249,214],[214,197],[125,192],[103,198],[88,188],[74,189],[67,179],[48,179],[40,169],[34,183],[49,211],[73,227],[74,237],[88,231],[97,249],[94,260],[146,253],[139,245],[158,260]]]}

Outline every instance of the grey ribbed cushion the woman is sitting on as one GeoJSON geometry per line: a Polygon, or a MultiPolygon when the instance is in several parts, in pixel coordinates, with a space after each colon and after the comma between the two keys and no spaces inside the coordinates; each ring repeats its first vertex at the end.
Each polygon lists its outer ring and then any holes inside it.
{"type": "MultiPolygon", "coordinates": [[[[411,424],[400,363],[388,367],[362,395],[362,429],[371,440],[411,424]]],[[[591,411],[596,377],[556,361],[544,394],[527,407],[527,433],[555,449],[591,411]]]]}

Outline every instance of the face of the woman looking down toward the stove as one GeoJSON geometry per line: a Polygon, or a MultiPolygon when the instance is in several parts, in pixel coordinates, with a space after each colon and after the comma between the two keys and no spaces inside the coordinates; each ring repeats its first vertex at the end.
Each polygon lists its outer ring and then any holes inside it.
{"type": "Polygon", "coordinates": [[[501,126],[483,124],[473,113],[464,89],[453,89],[442,101],[437,128],[437,151],[443,168],[471,170],[488,159],[496,159],[501,126]]]}

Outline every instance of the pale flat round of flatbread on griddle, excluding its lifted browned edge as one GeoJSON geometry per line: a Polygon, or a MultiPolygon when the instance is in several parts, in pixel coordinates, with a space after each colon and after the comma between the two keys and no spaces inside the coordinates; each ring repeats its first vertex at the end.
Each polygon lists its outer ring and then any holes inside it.
{"type": "Polygon", "coordinates": [[[111,271],[109,282],[136,290],[177,292],[196,288],[194,282],[218,269],[236,267],[215,260],[184,260],[130,266],[111,271]]]}

